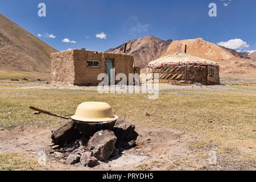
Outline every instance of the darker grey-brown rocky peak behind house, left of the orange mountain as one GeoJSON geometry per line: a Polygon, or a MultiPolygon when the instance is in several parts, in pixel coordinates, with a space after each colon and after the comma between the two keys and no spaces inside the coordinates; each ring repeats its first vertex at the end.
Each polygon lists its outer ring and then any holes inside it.
{"type": "MultiPolygon", "coordinates": [[[[126,53],[134,56],[135,64],[139,67],[146,67],[147,63],[151,60],[158,59],[170,44],[172,40],[161,40],[154,36],[145,36],[143,38],[130,40],[127,42],[126,53]]],[[[113,49],[109,49],[106,52],[121,53],[123,52],[123,46],[118,46],[113,49]]]]}

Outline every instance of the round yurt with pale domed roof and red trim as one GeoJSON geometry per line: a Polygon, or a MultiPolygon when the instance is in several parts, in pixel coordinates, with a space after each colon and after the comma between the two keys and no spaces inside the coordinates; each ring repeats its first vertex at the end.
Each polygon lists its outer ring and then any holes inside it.
{"type": "Polygon", "coordinates": [[[219,85],[219,71],[218,64],[213,61],[177,52],[148,63],[147,81],[154,83],[158,73],[160,84],[219,85]]]}

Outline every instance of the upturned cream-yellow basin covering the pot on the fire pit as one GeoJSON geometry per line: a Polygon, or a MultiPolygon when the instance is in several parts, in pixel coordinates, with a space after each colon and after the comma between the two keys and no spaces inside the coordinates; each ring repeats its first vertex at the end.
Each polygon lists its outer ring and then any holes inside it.
{"type": "Polygon", "coordinates": [[[71,118],[84,122],[108,122],[118,119],[113,114],[112,107],[105,102],[82,102],[71,118]]]}

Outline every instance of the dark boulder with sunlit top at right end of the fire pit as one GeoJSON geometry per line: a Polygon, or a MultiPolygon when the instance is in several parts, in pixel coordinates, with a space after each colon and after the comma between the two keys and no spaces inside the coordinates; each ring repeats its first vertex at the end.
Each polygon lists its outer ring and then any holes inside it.
{"type": "Polygon", "coordinates": [[[134,129],[135,125],[133,123],[124,119],[118,119],[112,130],[115,136],[117,136],[117,143],[119,143],[122,140],[136,140],[138,133],[134,129]]]}

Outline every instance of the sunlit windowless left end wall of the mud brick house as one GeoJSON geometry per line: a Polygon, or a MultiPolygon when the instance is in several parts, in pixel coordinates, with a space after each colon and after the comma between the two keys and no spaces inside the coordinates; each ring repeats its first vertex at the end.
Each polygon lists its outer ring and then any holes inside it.
{"type": "Polygon", "coordinates": [[[70,85],[75,82],[74,50],[51,54],[51,83],[70,85]]]}

